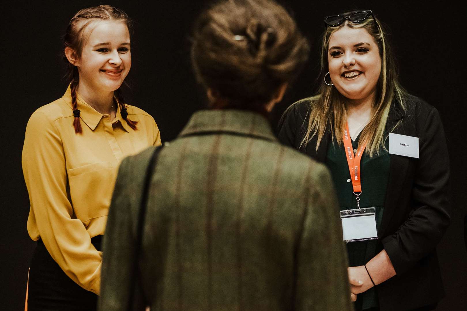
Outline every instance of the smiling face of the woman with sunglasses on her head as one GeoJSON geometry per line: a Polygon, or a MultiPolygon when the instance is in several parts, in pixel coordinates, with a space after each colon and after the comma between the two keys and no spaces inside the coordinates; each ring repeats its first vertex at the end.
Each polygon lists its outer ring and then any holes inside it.
{"type": "Polygon", "coordinates": [[[344,26],[331,35],[328,69],[334,86],[348,99],[373,97],[381,73],[381,56],[365,28],[344,26]]]}

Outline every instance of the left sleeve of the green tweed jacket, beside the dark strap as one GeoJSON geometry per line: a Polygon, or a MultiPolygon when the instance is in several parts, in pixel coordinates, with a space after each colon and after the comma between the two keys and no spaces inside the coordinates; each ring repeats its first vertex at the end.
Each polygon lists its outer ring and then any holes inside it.
{"type": "MultiPolygon", "coordinates": [[[[102,311],[125,311],[131,296],[134,253],[140,200],[149,159],[154,148],[123,159],[117,174],[102,242],[101,290],[98,302],[102,311]]],[[[135,283],[131,310],[145,310],[140,282],[135,283]]]]}

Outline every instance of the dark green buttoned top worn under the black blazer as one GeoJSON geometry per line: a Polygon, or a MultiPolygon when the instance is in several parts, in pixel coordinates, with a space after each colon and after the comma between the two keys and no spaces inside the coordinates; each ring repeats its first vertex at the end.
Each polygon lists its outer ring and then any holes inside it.
{"type": "MultiPolygon", "coordinates": [[[[352,141],[355,150],[358,148],[357,136],[352,141]]],[[[331,141],[327,148],[326,165],[331,171],[334,186],[337,190],[340,210],[358,208],[355,195],[353,194],[352,181],[350,180],[349,168],[344,145],[333,144],[331,141]]],[[[367,152],[361,158],[361,195],[360,207],[375,207],[377,228],[381,226],[384,199],[389,179],[390,156],[386,150],[382,150],[379,156],[370,158],[367,152]]],[[[373,258],[376,254],[376,243],[378,240],[348,242],[347,253],[349,266],[361,266],[373,258]]],[[[378,307],[378,297],[375,288],[357,295],[355,310],[367,310],[378,307]]]]}

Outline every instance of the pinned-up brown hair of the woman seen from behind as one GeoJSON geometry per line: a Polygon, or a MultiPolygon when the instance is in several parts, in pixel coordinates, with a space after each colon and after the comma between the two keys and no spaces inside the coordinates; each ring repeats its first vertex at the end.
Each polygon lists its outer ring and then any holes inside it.
{"type": "Polygon", "coordinates": [[[220,97],[211,108],[265,112],[308,51],[295,21],[275,1],[222,0],[195,22],[191,63],[198,82],[220,97]]]}

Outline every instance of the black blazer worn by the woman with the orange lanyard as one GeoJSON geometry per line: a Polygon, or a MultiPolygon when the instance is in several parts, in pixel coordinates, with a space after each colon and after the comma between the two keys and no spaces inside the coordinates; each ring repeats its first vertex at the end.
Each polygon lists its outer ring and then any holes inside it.
{"type": "MultiPolygon", "coordinates": [[[[376,253],[385,249],[396,276],[376,286],[380,310],[410,310],[435,304],[445,296],[436,245],[449,224],[450,183],[446,137],[438,111],[417,97],[408,97],[403,111],[391,105],[386,137],[393,133],[419,138],[419,159],[391,154],[380,238],[376,253]]],[[[279,139],[324,162],[331,139],[327,132],[318,151],[317,139],[299,148],[310,104],[297,103],[279,124],[279,139]]],[[[337,212],[336,212],[337,213],[337,212]]],[[[376,254],[375,254],[376,255],[376,254]]]]}

